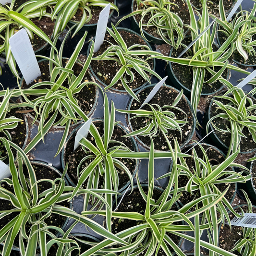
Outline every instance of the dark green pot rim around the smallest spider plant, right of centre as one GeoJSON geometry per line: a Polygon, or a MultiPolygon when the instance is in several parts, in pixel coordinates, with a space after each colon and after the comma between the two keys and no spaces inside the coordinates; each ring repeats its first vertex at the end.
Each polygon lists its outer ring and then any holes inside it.
{"type": "MultiPolygon", "coordinates": [[[[136,92],[136,95],[138,95],[139,93],[141,93],[144,89],[146,89],[146,88],[148,88],[148,87],[154,87],[155,85],[156,85],[156,84],[147,85],[147,86],[141,88],[139,91],[136,92]]],[[[167,88],[172,88],[172,89],[176,90],[177,93],[180,93],[179,90],[177,90],[176,88],[173,88],[173,87],[170,86],[170,85],[162,85],[162,87],[165,87],[165,86],[166,86],[167,88]]],[[[191,112],[192,112],[192,114],[193,114],[193,123],[192,123],[192,127],[191,127],[191,132],[189,133],[189,135],[187,135],[186,140],[184,141],[184,143],[183,143],[182,145],[180,145],[181,148],[183,148],[185,145],[187,145],[187,143],[191,140],[193,134],[195,133],[195,114],[194,114],[193,108],[192,108],[191,103],[190,103],[190,101],[188,100],[188,98],[186,98],[186,96],[184,96],[184,98],[186,99],[187,104],[189,105],[190,110],[191,110],[191,112]]],[[[134,100],[135,100],[135,99],[132,98],[131,101],[129,102],[128,110],[131,110],[131,106],[132,106],[134,100]]],[[[129,127],[130,127],[131,131],[133,132],[134,129],[133,129],[132,123],[131,123],[131,121],[130,121],[130,114],[128,114],[127,116],[128,116],[129,127]]],[[[142,142],[142,141],[140,140],[139,136],[136,135],[136,136],[134,136],[134,137],[136,138],[136,140],[137,140],[143,147],[145,147],[147,150],[150,149],[150,146],[147,146],[144,142],[142,142]]],[[[154,137],[153,137],[153,139],[154,139],[154,137]]]]}

